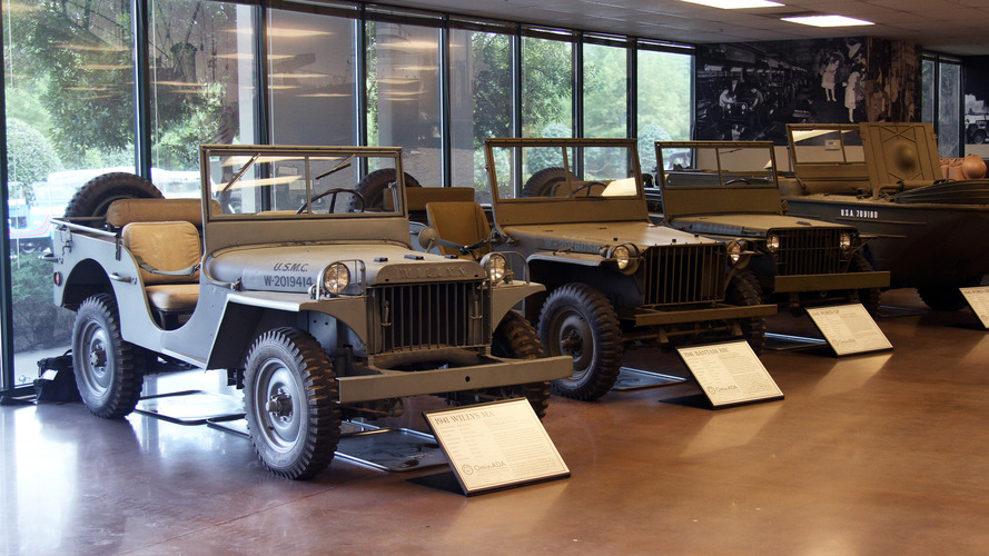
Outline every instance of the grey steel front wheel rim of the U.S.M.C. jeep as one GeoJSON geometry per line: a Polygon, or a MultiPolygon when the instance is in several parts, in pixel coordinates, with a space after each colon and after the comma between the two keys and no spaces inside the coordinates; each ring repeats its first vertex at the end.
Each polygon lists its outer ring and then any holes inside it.
{"type": "Polygon", "coordinates": [[[303,387],[295,374],[278,359],[269,359],[258,370],[254,409],[258,434],[273,449],[290,451],[303,428],[303,387]]]}

